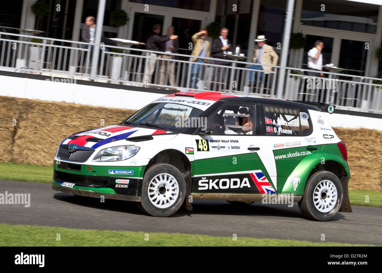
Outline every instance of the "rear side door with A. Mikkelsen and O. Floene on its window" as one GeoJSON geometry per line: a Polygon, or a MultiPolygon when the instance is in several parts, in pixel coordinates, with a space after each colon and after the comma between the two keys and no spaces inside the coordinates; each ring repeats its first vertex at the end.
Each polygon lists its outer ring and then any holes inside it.
{"type": "Polygon", "coordinates": [[[299,177],[294,177],[293,171],[306,156],[315,152],[308,147],[309,113],[293,107],[263,105],[261,116],[262,148],[263,154],[267,154],[261,159],[270,180],[277,193],[299,193],[299,177]],[[297,183],[293,183],[295,181],[297,183]]]}

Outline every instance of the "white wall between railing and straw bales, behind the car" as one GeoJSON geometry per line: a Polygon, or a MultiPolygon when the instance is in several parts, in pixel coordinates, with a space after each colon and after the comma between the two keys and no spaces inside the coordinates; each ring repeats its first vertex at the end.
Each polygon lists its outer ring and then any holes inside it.
{"type": "MultiPolygon", "coordinates": [[[[0,75],[0,96],[138,110],[165,94],[0,75]]],[[[322,117],[332,127],[367,128],[382,131],[382,119],[326,112],[322,113],[322,117]]]]}

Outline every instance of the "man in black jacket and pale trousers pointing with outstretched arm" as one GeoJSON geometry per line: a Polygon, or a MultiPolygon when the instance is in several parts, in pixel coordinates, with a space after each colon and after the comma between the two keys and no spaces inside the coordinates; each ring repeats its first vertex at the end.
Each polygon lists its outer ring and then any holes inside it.
{"type": "MultiPolygon", "coordinates": [[[[152,31],[149,33],[149,35],[147,35],[147,41],[146,41],[147,50],[161,51],[161,48],[162,48],[161,44],[163,42],[166,42],[170,39],[173,40],[178,38],[178,36],[173,34],[171,36],[166,35],[161,37],[158,35],[161,30],[162,30],[162,27],[160,26],[160,24],[154,24],[152,26],[152,31]]],[[[160,58],[160,55],[156,53],[151,53],[150,57],[160,58]]],[[[156,63],[157,63],[156,59],[146,59],[146,66],[145,66],[145,73],[144,73],[145,75],[143,80],[144,83],[149,83],[152,73],[154,73],[156,63]]]]}

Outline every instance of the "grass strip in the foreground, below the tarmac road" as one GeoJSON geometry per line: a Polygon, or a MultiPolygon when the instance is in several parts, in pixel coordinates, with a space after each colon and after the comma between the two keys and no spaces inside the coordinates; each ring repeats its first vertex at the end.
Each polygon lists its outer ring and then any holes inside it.
{"type": "Polygon", "coordinates": [[[0,246],[370,246],[335,242],[0,224],[0,246]],[[60,234],[60,241],[57,240],[60,234]],[[147,235],[148,234],[148,235],[147,235]],[[148,237],[148,240],[145,238],[148,237]]]}

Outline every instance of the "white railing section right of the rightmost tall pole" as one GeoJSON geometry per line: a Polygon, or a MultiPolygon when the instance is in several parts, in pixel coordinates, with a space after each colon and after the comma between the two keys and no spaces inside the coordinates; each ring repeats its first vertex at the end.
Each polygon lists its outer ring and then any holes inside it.
{"type": "Polygon", "coordinates": [[[286,68],[283,98],[325,102],[336,105],[337,109],[382,113],[381,79],[330,72],[320,72],[324,77],[317,77],[308,76],[308,72],[317,73],[315,70],[286,68]]]}

